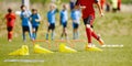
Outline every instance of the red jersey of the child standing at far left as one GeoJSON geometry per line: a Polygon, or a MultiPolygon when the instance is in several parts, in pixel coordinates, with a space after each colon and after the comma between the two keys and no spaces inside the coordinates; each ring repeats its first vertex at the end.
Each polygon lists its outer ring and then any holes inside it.
{"type": "Polygon", "coordinates": [[[14,21],[15,21],[15,14],[14,13],[8,13],[6,15],[7,19],[7,26],[13,26],[14,25],[14,21]]]}

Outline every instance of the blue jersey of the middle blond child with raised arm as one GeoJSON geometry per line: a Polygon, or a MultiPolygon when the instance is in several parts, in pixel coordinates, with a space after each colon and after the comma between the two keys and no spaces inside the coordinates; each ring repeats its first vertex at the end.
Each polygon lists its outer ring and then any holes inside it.
{"type": "Polygon", "coordinates": [[[48,11],[47,12],[47,21],[51,24],[55,24],[56,20],[55,20],[55,14],[56,14],[57,10],[53,10],[53,11],[48,11]]]}

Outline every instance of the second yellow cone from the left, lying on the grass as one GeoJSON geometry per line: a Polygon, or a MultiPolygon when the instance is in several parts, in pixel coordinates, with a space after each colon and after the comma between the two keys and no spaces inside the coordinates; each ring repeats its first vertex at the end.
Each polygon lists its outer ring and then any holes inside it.
{"type": "Polygon", "coordinates": [[[37,54],[48,54],[48,53],[53,53],[52,51],[48,51],[46,48],[43,48],[41,47],[40,45],[35,45],[34,46],[34,53],[37,53],[37,54]]]}

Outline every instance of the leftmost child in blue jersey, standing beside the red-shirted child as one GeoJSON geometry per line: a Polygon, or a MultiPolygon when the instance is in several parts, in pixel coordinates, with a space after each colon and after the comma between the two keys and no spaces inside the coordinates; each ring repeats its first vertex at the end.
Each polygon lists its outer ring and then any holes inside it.
{"type": "Polygon", "coordinates": [[[32,25],[30,22],[30,16],[31,16],[31,12],[29,10],[26,10],[25,6],[21,6],[21,20],[22,20],[22,35],[23,35],[23,41],[25,42],[25,32],[29,32],[31,40],[33,41],[33,36],[32,36],[32,25]]]}

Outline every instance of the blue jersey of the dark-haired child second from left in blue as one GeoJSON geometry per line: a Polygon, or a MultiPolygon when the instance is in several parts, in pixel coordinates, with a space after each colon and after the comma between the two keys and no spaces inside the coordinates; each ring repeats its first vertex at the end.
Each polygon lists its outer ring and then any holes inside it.
{"type": "Polygon", "coordinates": [[[32,14],[31,19],[32,19],[31,20],[32,26],[38,26],[40,25],[40,22],[36,21],[36,20],[41,20],[41,15],[38,13],[32,14]]]}

